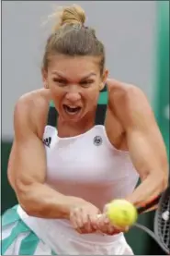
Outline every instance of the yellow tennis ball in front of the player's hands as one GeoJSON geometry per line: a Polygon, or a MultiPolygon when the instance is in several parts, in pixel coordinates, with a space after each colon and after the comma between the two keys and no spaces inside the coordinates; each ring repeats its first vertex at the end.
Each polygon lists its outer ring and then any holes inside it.
{"type": "Polygon", "coordinates": [[[108,203],[107,215],[113,226],[131,226],[136,222],[138,213],[130,201],[114,200],[108,203]]]}

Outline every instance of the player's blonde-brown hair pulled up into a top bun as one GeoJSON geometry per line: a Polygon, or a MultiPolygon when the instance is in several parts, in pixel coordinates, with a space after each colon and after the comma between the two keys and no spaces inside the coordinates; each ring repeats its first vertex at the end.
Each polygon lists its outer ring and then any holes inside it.
{"type": "Polygon", "coordinates": [[[52,55],[98,56],[101,74],[105,66],[105,48],[96,38],[96,31],[85,27],[85,11],[73,5],[56,12],[55,24],[45,46],[42,67],[47,70],[52,55]]]}

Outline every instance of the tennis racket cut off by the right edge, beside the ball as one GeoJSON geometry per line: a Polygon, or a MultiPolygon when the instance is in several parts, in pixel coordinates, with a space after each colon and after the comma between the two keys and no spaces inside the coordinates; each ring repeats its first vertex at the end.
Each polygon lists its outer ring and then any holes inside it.
{"type": "Polygon", "coordinates": [[[158,204],[158,208],[154,216],[153,231],[139,223],[135,223],[132,227],[142,229],[156,241],[167,255],[170,255],[170,187],[160,197],[140,207],[137,211],[141,214],[156,204],[158,204]]]}

